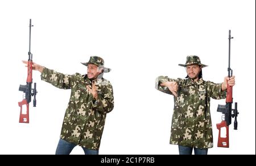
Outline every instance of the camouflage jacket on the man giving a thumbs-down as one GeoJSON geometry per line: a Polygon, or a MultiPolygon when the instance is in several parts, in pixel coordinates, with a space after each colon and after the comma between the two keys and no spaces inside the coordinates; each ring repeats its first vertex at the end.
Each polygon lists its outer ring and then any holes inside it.
{"type": "Polygon", "coordinates": [[[226,91],[221,84],[214,84],[200,78],[196,82],[188,79],[156,78],[156,89],[172,94],[167,87],[160,86],[166,81],[176,81],[179,85],[174,97],[170,144],[196,148],[212,148],[212,121],[210,119],[210,98],[223,99],[226,91]]]}

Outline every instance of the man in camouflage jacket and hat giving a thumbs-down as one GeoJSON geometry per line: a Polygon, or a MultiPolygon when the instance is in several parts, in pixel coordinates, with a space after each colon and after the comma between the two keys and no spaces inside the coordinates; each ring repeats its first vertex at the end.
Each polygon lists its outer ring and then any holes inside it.
{"type": "Polygon", "coordinates": [[[180,154],[207,154],[213,147],[212,122],[210,119],[210,98],[226,98],[226,86],[234,85],[234,76],[225,77],[221,84],[204,81],[198,56],[187,56],[185,79],[164,76],[156,78],[156,89],[174,95],[170,144],[179,145],[180,154]]]}

